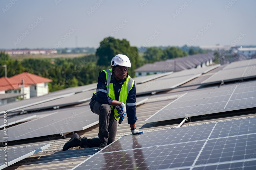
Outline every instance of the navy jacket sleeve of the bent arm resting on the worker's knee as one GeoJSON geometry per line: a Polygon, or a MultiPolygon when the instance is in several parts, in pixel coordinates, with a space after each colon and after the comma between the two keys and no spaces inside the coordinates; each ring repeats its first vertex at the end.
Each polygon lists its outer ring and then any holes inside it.
{"type": "Polygon", "coordinates": [[[111,97],[108,97],[107,95],[107,81],[106,81],[106,74],[104,71],[100,72],[100,75],[98,77],[98,84],[97,84],[97,90],[96,90],[96,101],[98,103],[103,104],[110,104],[113,99],[111,97]]]}

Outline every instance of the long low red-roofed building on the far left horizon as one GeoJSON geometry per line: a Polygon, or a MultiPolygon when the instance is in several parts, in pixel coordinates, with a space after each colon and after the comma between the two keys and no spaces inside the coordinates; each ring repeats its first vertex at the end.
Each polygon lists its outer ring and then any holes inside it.
{"type": "Polygon", "coordinates": [[[57,50],[41,49],[41,50],[5,50],[9,55],[24,55],[24,54],[55,54],[57,50]]]}

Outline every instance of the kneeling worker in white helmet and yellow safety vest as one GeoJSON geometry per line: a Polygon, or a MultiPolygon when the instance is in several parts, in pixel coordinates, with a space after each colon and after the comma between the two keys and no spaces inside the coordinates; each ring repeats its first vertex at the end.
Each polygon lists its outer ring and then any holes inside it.
{"type": "Polygon", "coordinates": [[[118,54],[111,61],[111,69],[103,70],[98,77],[96,93],[90,102],[91,111],[99,115],[99,138],[81,138],[75,133],[64,145],[63,151],[72,147],[99,147],[98,151],[115,140],[117,122],[127,113],[133,135],[143,133],[135,128],[136,89],[128,75],[131,62],[126,55],[118,54]],[[115,106],[120,106],[118,111],[115,106]]]}

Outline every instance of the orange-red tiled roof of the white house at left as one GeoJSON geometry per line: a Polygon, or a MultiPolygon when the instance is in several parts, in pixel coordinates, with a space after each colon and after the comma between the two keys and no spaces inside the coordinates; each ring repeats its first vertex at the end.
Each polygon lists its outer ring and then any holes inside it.
{"type": "Polygon", "coordinates": [[[22,79],[24,79],[25,87],[31,86],[37,83],[52,82],[52,80],[40,77],[35,74],[30,74],[23,72],[12,77],[1,77],[0,78],[0,91],[9,89],[20,89],[22,84],[22,79]]]}

